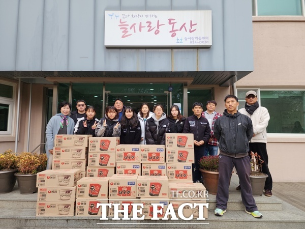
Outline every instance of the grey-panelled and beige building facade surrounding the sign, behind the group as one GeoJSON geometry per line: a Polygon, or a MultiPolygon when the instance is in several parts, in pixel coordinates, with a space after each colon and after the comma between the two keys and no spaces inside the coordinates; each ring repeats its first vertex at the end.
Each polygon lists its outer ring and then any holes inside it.
{"type": "Polygon", "coordinates": [[[175,103],[188,116],[195,101],[215,99],[222,112],[227,94],[242,107],[246,92],[256,90],[271,117],[273,180],[304,182],[294,168],[305,159],[305,134],[292,133],[305,120],[304,0],[264,2],[0,0],[0,149],[32,151],[45,142],[63,100],[74,110],[84,99],[99,118],[115,98],[135,109],[162,103],[167,113],[175,103]],[[212,44],[106,47],[109,11],[210,11],[212,44]]]}

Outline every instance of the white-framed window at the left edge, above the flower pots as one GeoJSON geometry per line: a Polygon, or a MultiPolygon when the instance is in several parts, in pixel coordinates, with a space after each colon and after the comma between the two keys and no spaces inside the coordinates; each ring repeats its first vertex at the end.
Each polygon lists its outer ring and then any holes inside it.
{"type": "Polygon", "coordinates": [[[0,82],[0,134],[12,133],[14,85],[0,82]]]}

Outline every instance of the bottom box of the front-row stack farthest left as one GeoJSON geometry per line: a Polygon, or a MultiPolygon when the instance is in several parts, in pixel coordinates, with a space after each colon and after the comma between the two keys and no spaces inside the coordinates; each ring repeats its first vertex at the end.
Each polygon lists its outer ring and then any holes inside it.
{"type": "Polygon", "coordinates": [[[36,216],[74,216],[75,201],[37,202],[36,216]]]}

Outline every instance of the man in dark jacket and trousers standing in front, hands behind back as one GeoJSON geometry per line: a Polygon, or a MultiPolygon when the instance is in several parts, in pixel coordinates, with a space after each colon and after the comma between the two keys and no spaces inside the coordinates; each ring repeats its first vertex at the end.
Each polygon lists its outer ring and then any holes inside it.
{"type": "Polygon", "coordinates": [[[219,141],[219,180],[215,215],[223,216],[227,209],[229,185],[235,166],[241,186],[241,199],[246,212],[255,218],[263,217],[257,210],[250,183],[251,165],[249,140],[253,136],[252,121],[237,111],[238,99],[234,95],[225,98],[224,115],[214,124],[214,135],[219,141]]]}

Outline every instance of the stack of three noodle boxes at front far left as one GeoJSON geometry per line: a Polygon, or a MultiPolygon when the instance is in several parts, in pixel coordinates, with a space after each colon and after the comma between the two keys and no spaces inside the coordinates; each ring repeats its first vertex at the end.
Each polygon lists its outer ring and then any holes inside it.
{"type": "Polygon", "coordinates": [[[37,216],[74,216],[80,169],[48,169],[37,174],[37,216]]]}

